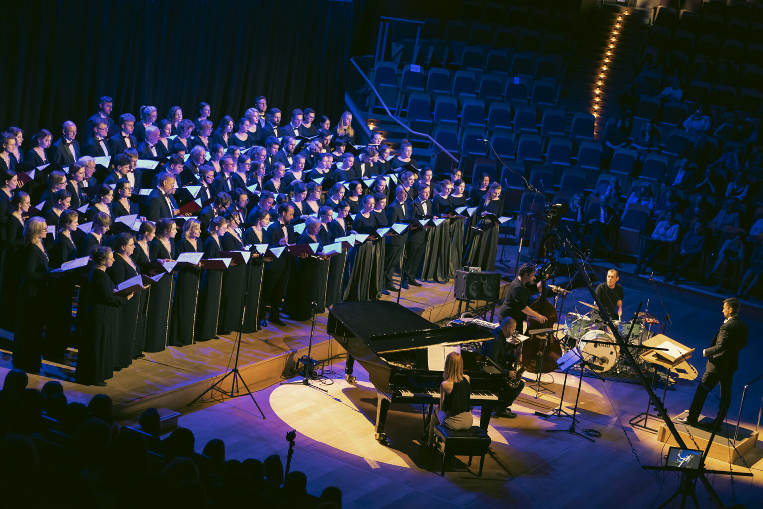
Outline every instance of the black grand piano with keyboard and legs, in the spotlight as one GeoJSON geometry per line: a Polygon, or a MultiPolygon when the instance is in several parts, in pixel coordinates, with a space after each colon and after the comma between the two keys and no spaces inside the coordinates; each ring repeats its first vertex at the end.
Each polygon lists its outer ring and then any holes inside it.
{"type": "MultiPolygon", "coordinates": [[[[493,336],[474,324],[437,327],[391,301],[334,304],[327,333],[347,350],[346,375],[353,380],[355,360],[369,372],[377,391],[375,438],[387,443],[385,420],[390,403],[439,404],[442,371],[428,369],[427,346],[468,345],[493,336]]],[[[478,345],[476,345],[478,346],[478,345]]],[[[487,430],[493,408],[505,406],[507,373],[495,362],[462,348],[472,406],[481,406],[480,427],[487,430]]]]}

